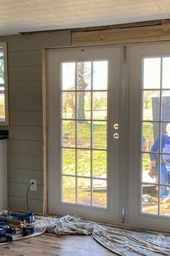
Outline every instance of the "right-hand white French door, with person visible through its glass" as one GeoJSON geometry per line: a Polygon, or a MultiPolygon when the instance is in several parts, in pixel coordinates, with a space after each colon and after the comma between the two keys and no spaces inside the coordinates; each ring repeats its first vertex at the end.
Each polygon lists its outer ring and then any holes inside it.
{"type": "Polygon", "coordinates": [[[130,46],[129,127],[128,222],[169,231],[170,43],[130,46]]]}

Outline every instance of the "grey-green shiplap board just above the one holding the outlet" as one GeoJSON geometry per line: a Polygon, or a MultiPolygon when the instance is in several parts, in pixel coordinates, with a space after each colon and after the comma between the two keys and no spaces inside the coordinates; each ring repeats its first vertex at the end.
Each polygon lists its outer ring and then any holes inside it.
{"type": "Polygon", "coordinates": [[[41,155],[19,155],[16,153],[9,153],[8,167],[42,170],[43,157],[41,155]]]}

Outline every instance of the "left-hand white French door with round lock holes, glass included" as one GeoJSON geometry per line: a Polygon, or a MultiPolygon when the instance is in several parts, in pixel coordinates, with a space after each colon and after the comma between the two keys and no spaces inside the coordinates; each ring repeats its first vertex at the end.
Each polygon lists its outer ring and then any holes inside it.
{"type": "Polygon", "coordinates": [[[48,50],[50,213],[120,221],[120,52],[48,50]]]}

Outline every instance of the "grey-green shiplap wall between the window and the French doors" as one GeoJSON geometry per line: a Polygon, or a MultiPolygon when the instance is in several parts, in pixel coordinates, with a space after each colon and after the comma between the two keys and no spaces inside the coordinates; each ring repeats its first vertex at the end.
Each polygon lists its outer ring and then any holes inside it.
{"type": "Polygon", "coordinates": [[[70,46],[71,35],[64,30],[1,37],[0,41],[8,44],[8,207],[27,210],[27,188],[30,179],[37,179],[37,192],[29,193],[29,205],[42,213],[42,48],[70,46]]]}

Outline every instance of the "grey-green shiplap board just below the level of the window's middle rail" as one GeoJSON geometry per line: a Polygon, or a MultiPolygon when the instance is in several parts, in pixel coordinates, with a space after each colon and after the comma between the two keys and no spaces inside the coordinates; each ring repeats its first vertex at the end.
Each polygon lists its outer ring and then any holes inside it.
{"type": "Polygon", "coordinates": [[[9,111],[42,111],[41,96],[11,96],[9,111]]]}

